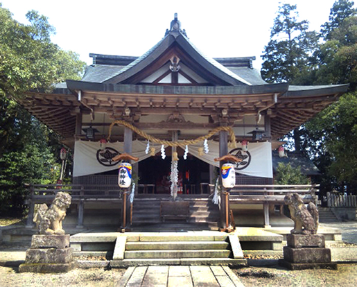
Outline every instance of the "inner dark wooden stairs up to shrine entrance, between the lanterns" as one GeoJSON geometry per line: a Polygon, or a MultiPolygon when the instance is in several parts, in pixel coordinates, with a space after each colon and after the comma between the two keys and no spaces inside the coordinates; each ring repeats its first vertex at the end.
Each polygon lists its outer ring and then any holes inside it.
{"type": "MultiPolygon", "coordinates": [[[[132,210],[132,225],[148,226],[162,224],[160,218],[160,202],[157,199],[136,199],[133,202],[132,210]]],[[[218,220],[220,218],[218,205],[214,205],[211,200],[207,198],[192,199],[190,202],[190,216],[189,220],[165,220],[163,226],[169,227],[175,225],[175,228],[187,227],[188,225],[200,226],[200,228],[207,227],[207,229],[217,230],[218,220]]]]}

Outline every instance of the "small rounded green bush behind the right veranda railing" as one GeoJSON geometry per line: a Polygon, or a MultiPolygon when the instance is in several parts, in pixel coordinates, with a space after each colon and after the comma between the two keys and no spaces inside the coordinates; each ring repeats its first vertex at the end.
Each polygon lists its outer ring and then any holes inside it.
{"type": "Polygon", "coordinates": [[[302,174],[301,167],[293,168],[291,164],[279,162],[277,174],[275,175],[276,184],[308,184],[308,178],[302,174]]]}

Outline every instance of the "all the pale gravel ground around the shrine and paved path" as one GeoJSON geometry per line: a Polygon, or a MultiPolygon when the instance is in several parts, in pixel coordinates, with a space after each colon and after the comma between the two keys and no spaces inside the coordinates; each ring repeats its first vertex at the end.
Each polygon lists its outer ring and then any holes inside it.
{"type": "MultiPolygon", "coordinates": [[[[2,224],[1,224],[2,223],[2,224]]],[[[12,220],[0,225],[14,224],[12,220]]],[[[16,224],[16,223],[15,223],[16,224]]],[[[18,223],[17,223],[18,224],[18,223]]],[[[20,223],[21,224],[21,223],[20,223]]],[[[355,247],[357,244],[357,222],[322,224],[342,229],[344,243],[332,243],[335,247],[355,247]],[[352,243],[352,244],[348,244],[352,243]]],[[[328,246],[328,247],[333,247],[328,246]]],[[[1,246],[0,249],[5,249],[1,246]]],[[[23,250],[24,245],[12,245],[11,249],[23,250]]],[[[26,246],[27,247],[27,246],[26,246]]],[[[25,247],[25,249],[26,249],[25,247]]],[[[255,256],[245,256],[253,259],[255,256]]],[[[256,256],[262,259],[264,256],[256,256]]],[[[266,256],[264,259],[277,259],[281,256],[266,256]]],[[[89,259],[87,259],[89,260],[89,259]]],[[[280,266],[270,268],[247,267],[233,269],[245,286],[356,286],[357,264],[338,264],[338,270],[286,270],[280,266]]],[[[0,266],[0,286],[118,286],[125,269],[104,270],[103,268],[76,269],[62,274],[19,273],[18,268],[0,266]]]]}

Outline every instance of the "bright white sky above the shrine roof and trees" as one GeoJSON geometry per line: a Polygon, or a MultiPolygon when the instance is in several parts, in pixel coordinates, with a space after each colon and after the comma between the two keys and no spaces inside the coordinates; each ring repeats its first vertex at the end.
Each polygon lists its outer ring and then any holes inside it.
{"type": "Polygon", "coordinates": [[[300,19],[320,31],[334,0],[0,0],[15,19],[37,10],[56,28],[52,40],[92,63],[89,53],[139,56],[164,37],[175,12],[191,42],[213,58],[256,56],[260,69],[264,46],[279,2],[297,4],[300,19]]]}

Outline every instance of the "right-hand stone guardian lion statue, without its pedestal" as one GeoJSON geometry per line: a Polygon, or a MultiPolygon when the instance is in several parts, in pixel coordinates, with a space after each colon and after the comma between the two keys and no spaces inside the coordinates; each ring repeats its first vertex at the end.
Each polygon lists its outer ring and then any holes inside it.
{"type": "Polygon", "coordinates": [[[304,205],[297,193],[288,193],[284,198],[288,205],[291,219],[294,220],[294,229],[291,234],[316,234],[319,224],[319,214],[313,202],[304,205]]]}

